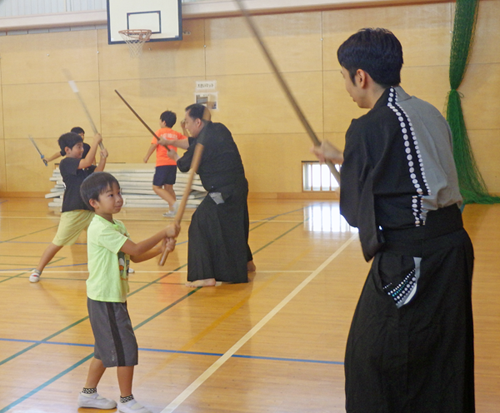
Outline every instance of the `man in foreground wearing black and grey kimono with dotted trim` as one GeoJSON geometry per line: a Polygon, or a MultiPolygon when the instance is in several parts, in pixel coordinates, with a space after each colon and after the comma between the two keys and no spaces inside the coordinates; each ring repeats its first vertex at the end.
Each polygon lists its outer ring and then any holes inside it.
{"type": "Polygon", "coordinates": [[[348,413],[471,413],[473,249],[446,120],[399,86],[403,52],[384,29],[339,48],[348,93],[370,111],[341,151],[340,209],[373,258],[346,348],[348,413]]]}

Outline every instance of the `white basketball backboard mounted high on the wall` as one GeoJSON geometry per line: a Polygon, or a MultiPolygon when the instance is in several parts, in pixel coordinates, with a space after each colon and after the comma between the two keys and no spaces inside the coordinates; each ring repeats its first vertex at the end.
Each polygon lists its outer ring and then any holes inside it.
{"type": "Polygon", "coordinates": [[[125,43],[120,30],[151,30],[151,42],[182,40],[181,0],[107,0],[108,44],[125,43]]]}

